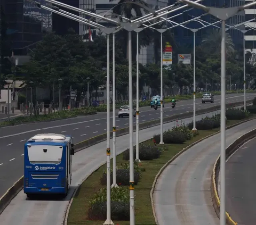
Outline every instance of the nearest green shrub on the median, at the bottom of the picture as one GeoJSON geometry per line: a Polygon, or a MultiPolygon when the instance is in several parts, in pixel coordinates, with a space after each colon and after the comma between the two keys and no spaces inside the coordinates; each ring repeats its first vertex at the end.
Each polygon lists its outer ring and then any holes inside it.
{"type": "MultiPolygon", "coordinates": [[[[94,195],[89,204],[89,220],[106,220],[107,189],[100,189],[98,193],[94,195]]],[[[111,188],[111,219],[130,219],[130,193],[127,187],[111,188]]]]}

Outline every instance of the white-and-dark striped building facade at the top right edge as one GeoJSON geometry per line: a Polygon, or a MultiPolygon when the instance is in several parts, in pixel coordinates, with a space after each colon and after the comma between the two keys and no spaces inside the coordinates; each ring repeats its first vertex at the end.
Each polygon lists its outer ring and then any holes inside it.
{"type": "MultiPolygon", "coordinates": [[[[245,3],[250,3],[253,1],[245,1],[245,3]]],[[[256,8],[255,6],[251,7],[251,9],[245,10],[245,21],[255,19],[256,18],[256,8]]],[[[245,24],[245,29],[249,30],[245,33],[245,51],[249,51],[252,53],[256,53],[256,21],[252,21],[250,23],[245,24]]]]}

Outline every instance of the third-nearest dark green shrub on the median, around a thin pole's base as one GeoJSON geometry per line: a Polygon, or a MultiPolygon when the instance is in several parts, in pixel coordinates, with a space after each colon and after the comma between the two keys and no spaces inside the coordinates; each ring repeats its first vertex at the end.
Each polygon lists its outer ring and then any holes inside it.
{"type": "MultiPolygon", "coordinates": [[[[155,145],[139,145],[139,159],[140,160],[153,160],[159,158],[162,154],[163,149],[161,147],[155,145]]],[[[133,148],[133,158],[136,159],[136,146],[133,148]]],[[[123,153],[123,159],[129,160],[130,159],[130,151],[127,149],[123,153]]]]}

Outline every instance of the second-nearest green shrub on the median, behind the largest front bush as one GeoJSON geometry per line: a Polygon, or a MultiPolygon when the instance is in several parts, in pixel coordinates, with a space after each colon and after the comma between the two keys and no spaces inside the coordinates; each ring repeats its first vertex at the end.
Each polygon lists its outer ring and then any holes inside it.
{"type": "MultiPolygon", "coordinates": [[[[142,171],[137,162],[134,162],[134,184],[137,185],[141,179],[142,171]]],[[[111,184],[113,183],[113,170],[110,172],[111,184]]],[[[130,165],[128,163],[121,164],[116,167],[116,183],[118,186],[128,186],[130,181],[130,165]]],[[[107,172],[104,171],[100,178],[100,184],[107,184],[107,172]]]]}

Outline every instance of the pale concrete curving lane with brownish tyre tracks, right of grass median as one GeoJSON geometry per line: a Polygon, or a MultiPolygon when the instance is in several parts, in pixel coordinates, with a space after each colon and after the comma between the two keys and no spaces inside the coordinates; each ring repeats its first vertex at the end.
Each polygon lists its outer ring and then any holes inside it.
{"type": "MultiPolygon", "coordinates": [[[[227,146],[254,128],[252,122],[226,131],[227,146]]],[[[211,200],[213,164],[220,154],[220,135],[191,147],[164,170],[154,193],[160,225],[217,225],[211,200]]]]}

